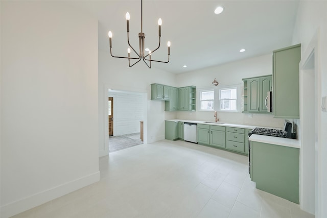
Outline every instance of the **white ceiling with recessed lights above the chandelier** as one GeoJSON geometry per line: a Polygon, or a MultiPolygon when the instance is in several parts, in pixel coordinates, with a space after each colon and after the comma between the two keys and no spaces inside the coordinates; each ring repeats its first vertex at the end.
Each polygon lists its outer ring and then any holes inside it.
{"type": "MultiPolygon", "coordinates": [[[[127,56],[126,12],[130,13],[130,42],[138,51],[141,32],[141,0],[68,1],[99,20],[99,49],[108,51],[108,31],[113,33],[112,51],[127,56]]],[[[160,1],[143,2],[145,46],[158,44],[158,18],[162,19],[161,46],[152,59],[170,62],[152,67],[175,74],[231,61],[271,54],[291,45],[298,1],[160,1]],[[221,14],[214,14],[223,6],[221,14]],[[246,52],[240,53],[240,49],[246,52]],[[183,65],[188,67],[183,68],[183,65]]],[[[132,54],[132,53],[131,53],[132,54]]],[[[145,64],[139,62],[138,64],[145,64]]],[[[128,61],[126,60],[126,65],[128,61]]]]}

